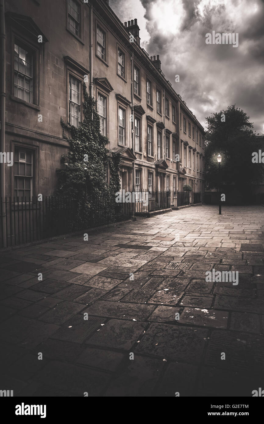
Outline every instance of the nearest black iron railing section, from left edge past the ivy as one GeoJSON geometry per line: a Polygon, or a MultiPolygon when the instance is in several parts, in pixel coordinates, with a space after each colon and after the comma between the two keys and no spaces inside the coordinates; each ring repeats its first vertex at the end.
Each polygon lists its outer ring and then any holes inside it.
{"type": "Polygon", "coordinates": [[[114,196],[103,194],[82,201],[55,196],[41,201],[37,197],[0,200],[0,247],[120,222],[133,215],[131,203],[117,203],[114,196]]]}

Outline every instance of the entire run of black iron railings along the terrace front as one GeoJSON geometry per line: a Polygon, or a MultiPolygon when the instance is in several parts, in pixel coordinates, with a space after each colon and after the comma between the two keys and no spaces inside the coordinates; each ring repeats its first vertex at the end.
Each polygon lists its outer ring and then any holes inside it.
{"type": "Polygon", "coordinates": [[[78,201],[56,196],[42,200],[37,197],[0,199],[0,247],[128,220],[134,213],[200,203],[200,199],[201,193],[170,190],[141,190],[130,194],[123,190],[119,196],[104,193],[78,201]]]}

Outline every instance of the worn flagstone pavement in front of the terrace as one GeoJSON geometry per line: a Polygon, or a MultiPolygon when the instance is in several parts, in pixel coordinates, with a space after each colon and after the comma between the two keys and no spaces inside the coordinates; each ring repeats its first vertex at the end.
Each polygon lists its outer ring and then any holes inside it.
{"type": "Polygon", "coordinates": [[[264,388],[262,206],[224,206],[222,215],[190,207],[88,234],[1,254],[0,389],[252,396],[264,388]],[[213,268],[238,271],[238,285],[206,282],[213,268]]]}

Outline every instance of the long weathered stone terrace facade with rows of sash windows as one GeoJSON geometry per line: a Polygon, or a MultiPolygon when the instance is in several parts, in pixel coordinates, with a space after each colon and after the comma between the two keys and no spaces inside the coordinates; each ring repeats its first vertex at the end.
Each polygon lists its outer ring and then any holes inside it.
{"type": "Polygon", "coordinates": [[[68,148],[61,117],[81,122],[83,81],[97,100],[106,147],[121,153],[123,189],[176,191],[188,183],[204,191],[203,127],[159,56],[140,47],[136,19],[122,24],[103,0],[6,0],[5,7],[6,151],[14,152],[6,195],[54,192],[68,148]]]}

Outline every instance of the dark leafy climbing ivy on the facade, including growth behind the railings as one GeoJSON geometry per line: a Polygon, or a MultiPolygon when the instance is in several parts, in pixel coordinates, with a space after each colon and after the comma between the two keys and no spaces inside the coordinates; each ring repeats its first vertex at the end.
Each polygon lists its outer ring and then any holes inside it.
{"type": "MultiPolygon", "coordinates": [[[[78,127],[65,123],[61,118],[63,137],[69,142],[69,152],[61,158],[64,167],[56,170],[58,189],[55,194],[63,199],[70,228],[75,230],[89,227],[98,214],[110,216],[113,212],[111,200],[120,189],[120,154],[106,148],[109,140],[100,132],[97,104],[88,95],[86,84],[83,84],[83,98],[83,122],[78,127]],[[106,182],[108,165],[109,185],[106,182]]],[[[54,215],[56,213],[54,211],[54,215]]]]}

